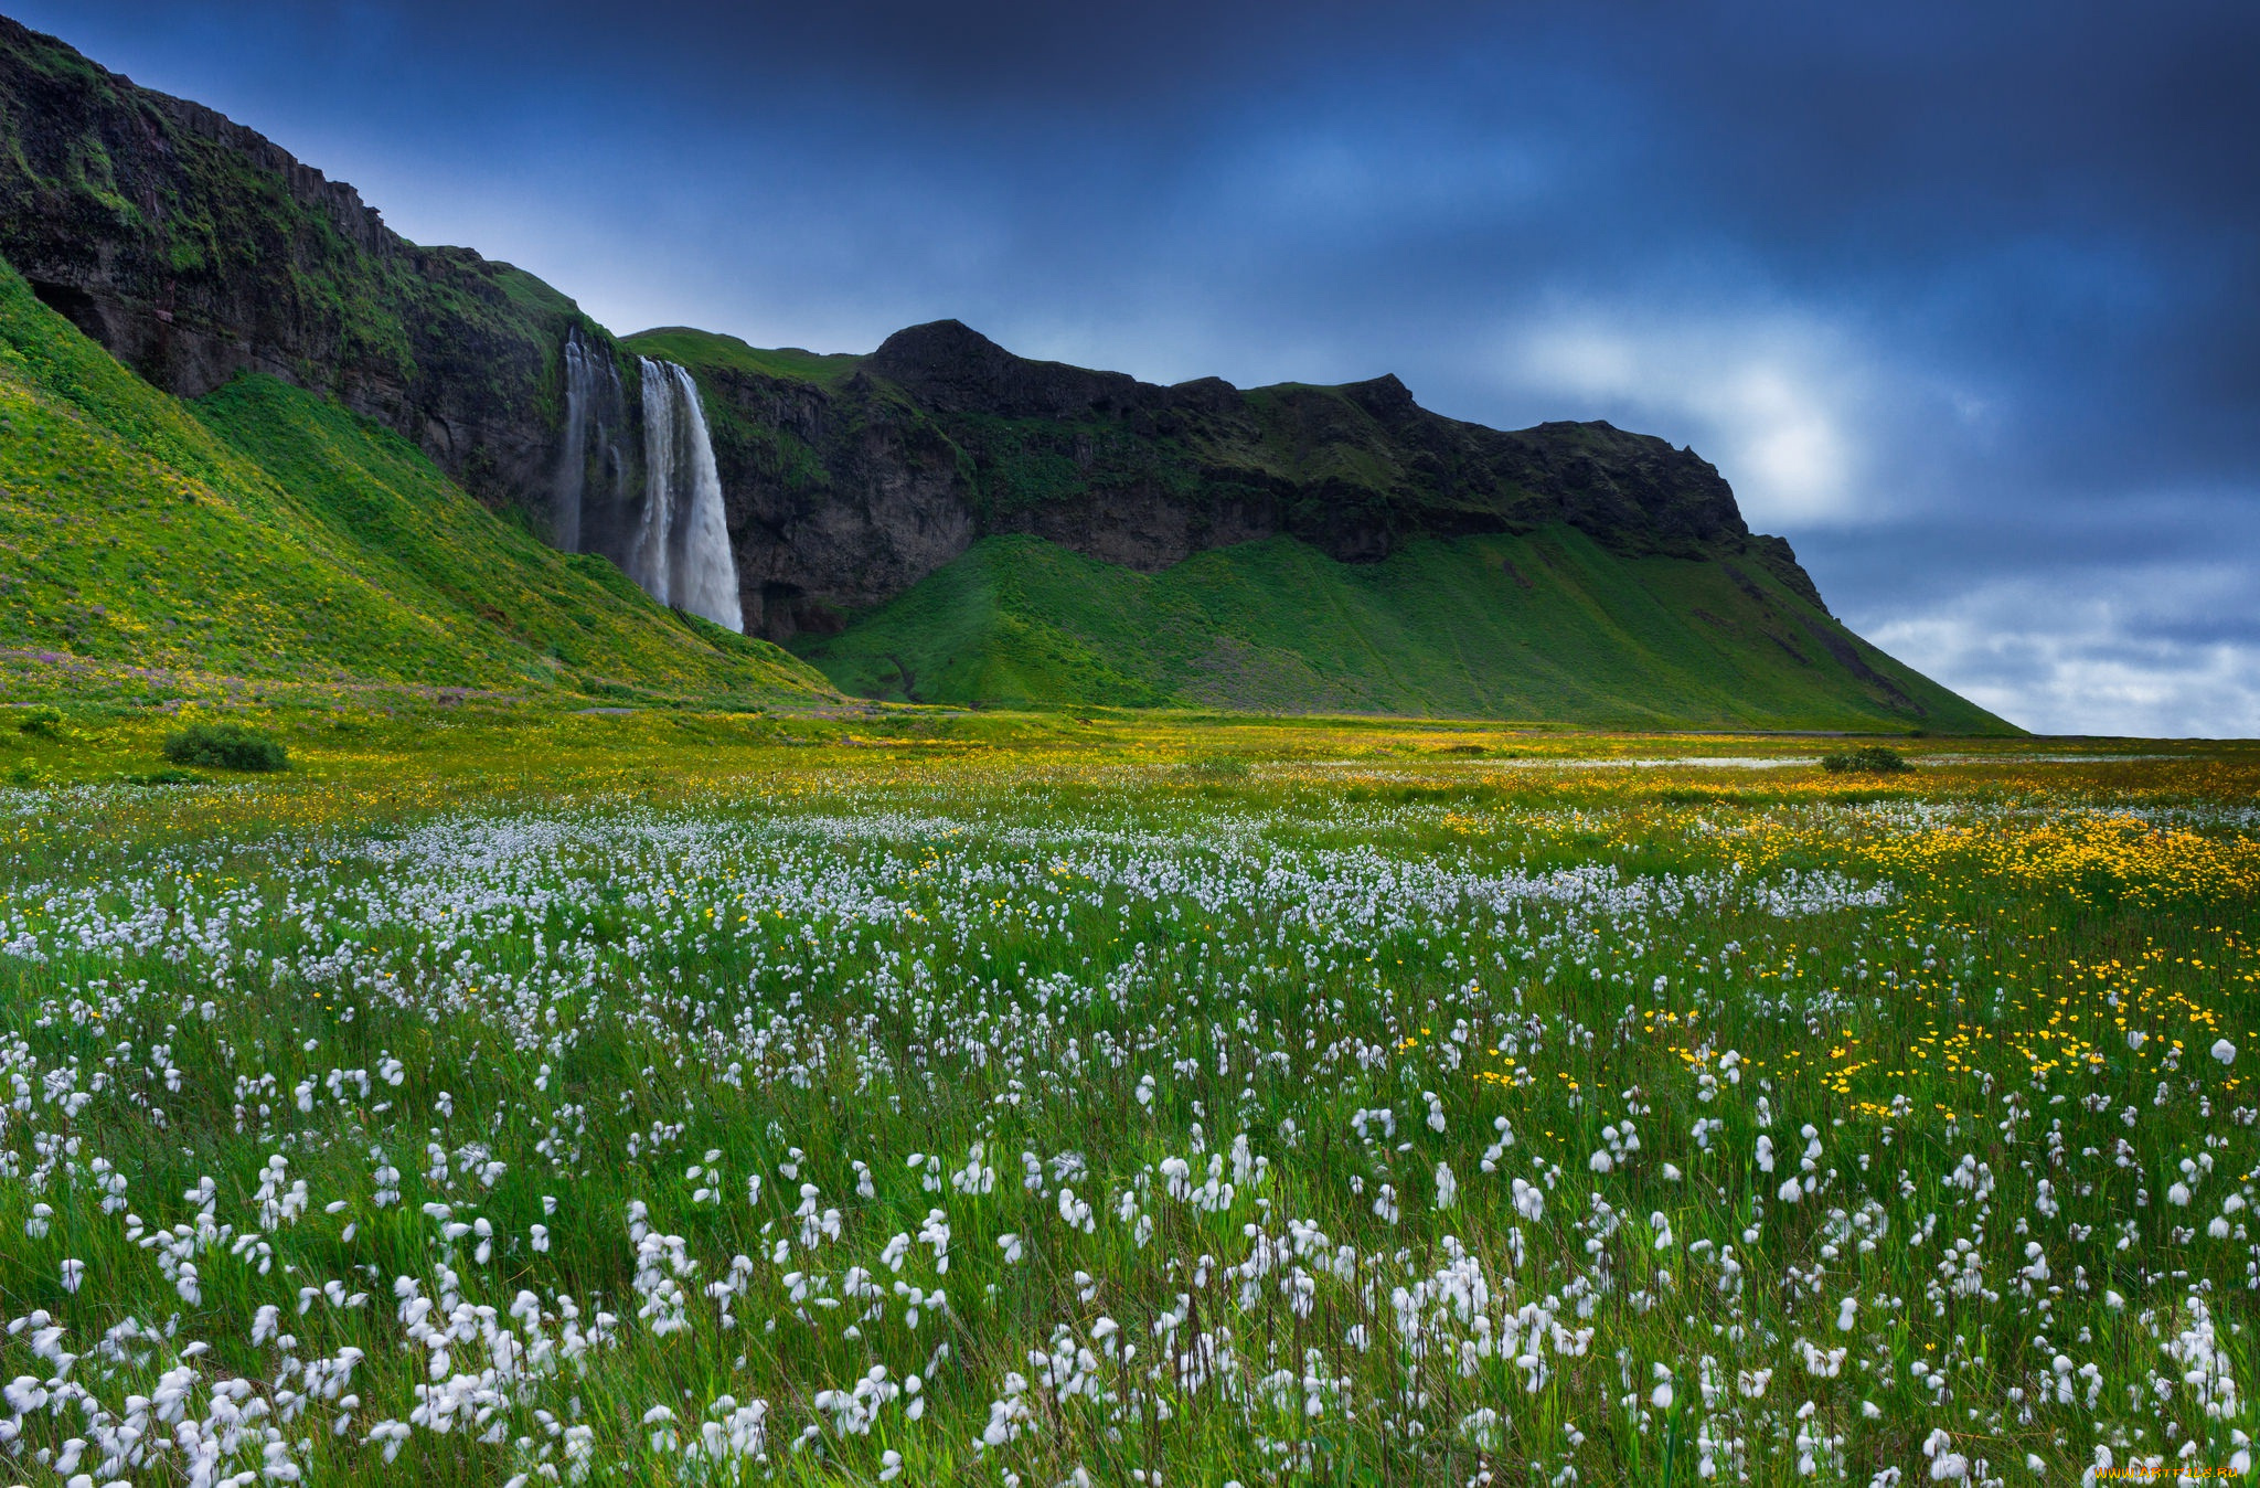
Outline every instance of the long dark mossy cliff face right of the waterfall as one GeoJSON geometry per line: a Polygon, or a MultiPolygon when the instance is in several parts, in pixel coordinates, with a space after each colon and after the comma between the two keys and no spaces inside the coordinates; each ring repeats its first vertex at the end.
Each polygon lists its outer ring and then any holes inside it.
{"type": "Polygon", "coordinates": [[[1693,450],[1607,423],[1501,432],[1431,414],[1397,378],[1155,387],[1015,357],[936,321],[868,357],[660,330],[628,346],[705,389],[746,626],[838,629],[997,534],[1159,572],[1290,536],[1372,563],[1422,536],[1562,522],[1625,556],[1763,568],[1819,606],[1693,450]]]}

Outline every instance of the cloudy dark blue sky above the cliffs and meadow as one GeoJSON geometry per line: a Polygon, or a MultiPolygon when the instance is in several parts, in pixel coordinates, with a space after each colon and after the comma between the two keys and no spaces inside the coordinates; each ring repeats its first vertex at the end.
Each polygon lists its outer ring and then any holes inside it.
{"type": "Polygon", "coordinates": [[[615,330],[1693,443],[2032,728],[2260,735],[2260,7],[11,0],[615,330]]]}

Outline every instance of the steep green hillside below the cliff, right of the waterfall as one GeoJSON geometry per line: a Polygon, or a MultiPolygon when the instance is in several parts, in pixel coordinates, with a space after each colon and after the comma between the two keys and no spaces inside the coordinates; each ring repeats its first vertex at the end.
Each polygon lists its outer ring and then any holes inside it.
{"type": "Polygon", "coordinates": [[[1756,563],[1627,559],[1566,525],[1381,563],[1268,538],[1159,574],[985,538],[793,647],[847,692],[922,701],[2011,730],[1756,563]]]}

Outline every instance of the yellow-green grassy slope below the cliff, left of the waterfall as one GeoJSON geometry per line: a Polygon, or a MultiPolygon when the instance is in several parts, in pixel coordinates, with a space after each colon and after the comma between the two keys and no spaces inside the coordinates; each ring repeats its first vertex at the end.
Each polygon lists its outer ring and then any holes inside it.
{"type": "Polygon", "coordinates": [[[183,405],[0,265],[0,651],[183,674],[827,692],[558,554],[414,445],[273,378],[183,405]]]}

